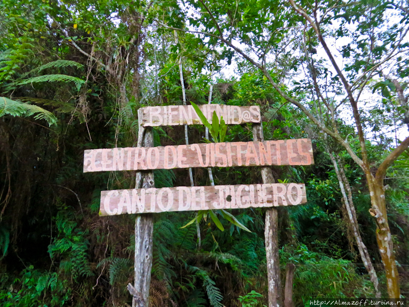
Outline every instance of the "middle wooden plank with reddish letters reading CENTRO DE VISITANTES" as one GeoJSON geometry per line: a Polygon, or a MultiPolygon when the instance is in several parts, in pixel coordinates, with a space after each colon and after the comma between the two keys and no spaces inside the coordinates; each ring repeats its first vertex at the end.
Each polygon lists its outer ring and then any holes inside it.
{"type": "Polygon", "coordinates": [[[310,139],[89,149],[84,172],[313,164],[310,139]]]}

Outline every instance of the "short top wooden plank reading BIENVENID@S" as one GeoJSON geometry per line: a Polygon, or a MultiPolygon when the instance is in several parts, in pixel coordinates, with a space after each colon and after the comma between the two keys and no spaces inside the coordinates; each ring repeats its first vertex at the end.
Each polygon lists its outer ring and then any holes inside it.
{"type": "MultiPolygon", "coordinates": [[[[257,105],[203,104],[199,105],[199,108],[210,123],[214,111],[218,118],[223,117],[224,122],[228,125],[261,121],[260,107],[257,105]]],[[[144,127],[203,124],[191,105],[146,106],[141,109],[141,124],[144,127]]]]}

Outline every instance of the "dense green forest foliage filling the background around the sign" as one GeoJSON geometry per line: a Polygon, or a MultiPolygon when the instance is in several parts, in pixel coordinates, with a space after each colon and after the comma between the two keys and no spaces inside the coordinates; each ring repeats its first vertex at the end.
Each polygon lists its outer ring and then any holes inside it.
{"type": "MultiPolygon", "coordinates": [[[[212,10],[217,12],[224,34],[246,42],[246,52],[264,61],[268,75],[280,89],[305,102],[319,117],[321,103],[311,94],[311,75],[300,73],[308,71],[308,56],[317,48],[317,41],[312,31],[297,32],[300,18],[294,17],[286,3],[272,3],[274,7],[270,1],[215,2],[212,10]],[[228,28],[232,28],[231,33],[228,28]],[[276,31],[282,28],[288,30],[276,31]],[[274,61],[265,59],[271,54],[274,61]]],[[[200,10],[200,4],[203,2],[192,2],[189,11],[188,4],[172,1],[0,3],[2,306],[131,304],[126,285],[133,279],[134,216],[100,217],[98,211],[100,191],[134,187],[135,174],[83,174],[83,151],[134,146],[138,108],[181,104],[182,87],[189,104],[207,103],[212,91],[212,103],[259,105],[267,140],[312,139],[314,165],[272,168],[277,181],[304,182],[307,188],[306,205],[279,208],[281,279],[284,284],[286,264],[295,264],[294,304],[305,305],[311,298],[375,296],[342,201],[332,152],[345,170],[360,233],[377,272],[382,297],[387,297],[365,173],[350,152],[325,138],[296,105],[287,103],[265,72],[255,69],[245,57],[236,58],[236,51],[228,44],[211,35],[173,31],[186,30],[189,25],[218,35],[205,10],[189,15],[193,9],[200,10]],[[179,59],[183,62],[183,86],[179,59]],[[232,63],[236,77],[211,76],[211,72],[232,63]]],[[[399,55],[391,62],[391,78],[378,74],[365,80],[367,94],[372,95],[368,100],[373,102],[360,109],[365,118],[368,156],[376,171],[399,144],[398,136],[389,130],[402,131],[399,129],[406,124],[407,104],[402,104],[399,95],[406,90],[408,46],[405,40],[396,46],[394,38],[406,31],[408,9],[405,3],[380,1],[375,5],[364,1],[348,5],[342,12],[337,4],[341,7],[344,3],[321,4],[339,10],[323,23],[328,26],[342,20],[336,31],[327,29],[328,36],[350,36],[358,44],[358,48],[348,44],[342,50],[351,79],[365,66],[362,58],[371,47],[368,39],[347,26],[355,25],[368,34],[368,29],[378,31],[385,18],[398,21],[391,21],[384,35],[376,32],[381,43],[371,49],[376,60],[399,48],[399,55]],[[365,14],[368,6],[374,7],[373,15],[368,23],[359,24],[359,15],[365,14]],[[386,9],[394,10],[391,16],[382,15],[386,9]],[[393,19],[394,14],[399,19],[393,19]]],[[[325,87],[325,93],[335,97],[334,103],[344,97],[328,62],[320,59],[316,65],[312,78],[321,76],[316,86],[325,87]]],[[[345,108],[340,107],[332,119],[322,114],[322,120],[329,126],[336,122],[339,134],[361,156],[351,116],[343,111],[345,108]]],[[[191,126],[188,132],[190,143],[203,141],[204,127],[191,126]]],[[[183,127],[154,129],[156,146],[184,144],[184,138],[183,127]]],[[[225,142],[251,140],[252,129],[246,124],[229,126],[224,136],[225,142]]],[[[384,180],[403,297],[409,294],[408,155],[400,156],[384,180]]],[[[186,185],[189,178],[185,169],[157,170],[154,176],[156,187],[186,185]]],[[[197,186],[210,185],[206,169],[194,169],[193,177],[197,186]]],[[[213,177],[215,184],[261,183],[257,167],[213,168],[213,177]]],[[[194,218],[194,212],[155,215],[151,307],[267,304],[264,210],[235,209],[231,213],[251,232],[222,216],[224,231],[220,231],[210,217],[202,218],[200,243],[195,224],[181,228],[194,218]]]]}

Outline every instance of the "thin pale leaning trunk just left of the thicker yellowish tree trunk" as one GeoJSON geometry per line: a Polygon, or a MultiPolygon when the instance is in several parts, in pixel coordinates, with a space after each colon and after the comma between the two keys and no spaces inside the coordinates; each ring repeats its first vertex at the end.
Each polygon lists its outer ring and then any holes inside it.
{"type": "Polygon", "coordinates": [[[367,270],[370,276],[370,279],[372,281],[372,284],[374,286],[375,297],[380,298],[381,293],[379,291],[378,276],[376,275],[376,271],[372,265],[372,261],[368,253],[368,249],[363,243],[362,237],[359,232],[359,224],[356,218],[356,211],[355,211],[354,203],[352,200],[351,187],[349,185],[347,177],[345,176],[344,167],[340,163],[338,167],[338,163],[336,162],[332,152],[330,152],[330,158],[331,158],[332,164],[335,169],[336,178],[338,179],[339,188],[341,190],[342,197],[343,197],[343,202],[348,212],[349,223],[352,227],[352,233],[354,234],[354,237],[355,237],[355,242],[356,242],[356,246],[358,247],[359,255],[361,256],[362,263],[365,266],[365,269],[367,270]],[[345,191],[345,188],[348,192],[348,195],[345,191]]]}

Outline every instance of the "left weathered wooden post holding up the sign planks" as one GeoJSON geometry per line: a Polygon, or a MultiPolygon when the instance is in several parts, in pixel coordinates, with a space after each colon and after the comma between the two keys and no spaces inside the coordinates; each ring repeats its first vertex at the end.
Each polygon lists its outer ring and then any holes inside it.
{"type": "MultiPolygon", "coordinates": [[[[152,127],[142,127],[142,114],[138,110],[138,147],[153,147],[152,127]]],[[[153,171],[138,171],[135,188],[154,188],[153,171]]],[[[148,307],[150,274],[152,269],[153,215],[137,214],[135,220],[134,290],[132,307],[148,307]]]]}

